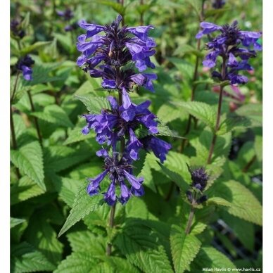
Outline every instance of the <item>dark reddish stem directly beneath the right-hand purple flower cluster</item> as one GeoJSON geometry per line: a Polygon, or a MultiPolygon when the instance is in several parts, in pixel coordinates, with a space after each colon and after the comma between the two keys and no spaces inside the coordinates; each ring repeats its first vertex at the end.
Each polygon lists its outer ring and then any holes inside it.
{"type": "MultiPolygon", "coordinates": [[[[223,58],[221,75],[222,75],[222,80],[224,80],[224,78],[226,77],[226,59],[225,58],[223,58]]],[[[216,143],[216,139],[217,139],[217,131],[219,129],[220,118],[221,118],[222,98],[223,98],[223,93],[224,93],[223,91],[224,91],[224,87],[221,84],[220,85],[220,95],[219,95],[219,100],[218,100],[218,109],[217,109],[217,119],[216,119],[215,131],[213,133],[212,142],[210,144],[210,151],[208,153],[207,164],[210,164],[210,161],[211,161],[211,158],[212,158],[212,153],[213,153],[215,143],[216,143]]]]}

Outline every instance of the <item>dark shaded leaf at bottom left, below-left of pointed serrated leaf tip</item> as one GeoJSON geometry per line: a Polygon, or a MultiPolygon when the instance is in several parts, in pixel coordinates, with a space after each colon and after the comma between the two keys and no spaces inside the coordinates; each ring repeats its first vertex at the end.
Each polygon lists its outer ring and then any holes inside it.
{"type": "Polygon", "coordinates": [[[53,265],[61,261],[63,243],[58,241],[56,231],[49,224],[46,215],[31,217],[25,231],[25,238],[32,246],[39,249],[53,265]]]}

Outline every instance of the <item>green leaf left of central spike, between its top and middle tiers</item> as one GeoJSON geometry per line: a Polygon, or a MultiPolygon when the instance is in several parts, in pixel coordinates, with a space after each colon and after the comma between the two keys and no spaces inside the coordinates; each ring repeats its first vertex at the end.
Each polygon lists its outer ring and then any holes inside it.
{"type": "Polygon", "coordinates": [[[75,96],[80,99],[91,114],[101,114],[101,109],[110,109],[110,103],[106,98],[100,96],[75,96]]]}

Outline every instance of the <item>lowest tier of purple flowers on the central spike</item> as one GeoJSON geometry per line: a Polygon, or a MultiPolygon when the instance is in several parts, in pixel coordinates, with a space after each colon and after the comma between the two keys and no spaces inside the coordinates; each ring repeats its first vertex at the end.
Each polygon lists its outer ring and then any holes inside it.
{"type": "Polygon", "coordinates": [[[87,186],[87,193],[90,196],[94,196],[99,193],[100,183],[108,174],[110,179],[110,185],[108,186],[108,190],[104,193],[104,200],[108,205],[114,205],[116,200],[120,201],[120,203],[125,204],[129,200],[129,198],[134,196],[141,196],[144,194],[144,189],[142,183],[144,179],[142,177],[136,178],[132,174],[132,165],[131,159],[127,158],[125,155],[122,158],[118,159],[118,152],[113,151],[113,156],[110,157],[108,151],[105,149],[101,149],[97,152],[97,155],[104,158],[104,168],[105,170],[96,176],[95,178],[89,178],[90,184],[87,186]],[[125,180],[131,186],[128,189],[125,184],[125,180]],[[120,196],[116,196],[116,187],[120,186],[120,196]],[[141,194],[142,193],[142,194],[141,194]]]}

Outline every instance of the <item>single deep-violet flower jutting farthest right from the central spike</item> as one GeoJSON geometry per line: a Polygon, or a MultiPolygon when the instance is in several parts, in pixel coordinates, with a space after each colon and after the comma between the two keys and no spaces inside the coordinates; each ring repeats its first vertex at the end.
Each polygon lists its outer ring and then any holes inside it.
{"type": "Polygon", "coordinates": [[[162,139],[158,139],[156,136],[145,136],[143,139],[140,139],[140,141],[146,150],[153,151],[161,163],[166,160],[167,152],[172,148],[172,145],[162,139]]]}

